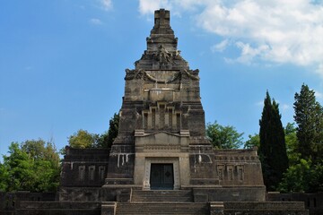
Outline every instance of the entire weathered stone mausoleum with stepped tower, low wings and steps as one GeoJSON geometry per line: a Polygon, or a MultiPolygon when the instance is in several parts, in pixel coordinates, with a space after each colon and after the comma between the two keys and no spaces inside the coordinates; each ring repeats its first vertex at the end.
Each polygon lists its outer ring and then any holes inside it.
{"type": "Polygon", "coordinates": [[[127,69],[111,150],[66,148],[55,202],[17,214],[308,214],[303,202],[266,202],[257,150],[214,150],[205,137],[199,71],[154,13],[147,48],[127,69]]]}

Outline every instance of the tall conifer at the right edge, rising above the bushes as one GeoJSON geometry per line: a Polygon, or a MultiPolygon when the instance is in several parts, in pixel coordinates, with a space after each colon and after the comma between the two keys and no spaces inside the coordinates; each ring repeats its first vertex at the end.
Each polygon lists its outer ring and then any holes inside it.
{"type": "Polygon", "coordinates": [[[323,156],[323,108],[315,98],[315,91],[304,83],[294,98],[298,150],[301,159],[311,159],[316,164],[323,156]]]}

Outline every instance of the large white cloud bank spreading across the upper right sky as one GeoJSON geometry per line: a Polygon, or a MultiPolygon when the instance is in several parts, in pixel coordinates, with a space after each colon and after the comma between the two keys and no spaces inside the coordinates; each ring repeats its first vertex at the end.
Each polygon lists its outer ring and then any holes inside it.
{"type": "MultiPolygon", "coordinates": [[[[161,7],[191,12],[196,25],[231,39],[240,49],[235,60],[315,66],[323,77],[323,4],[309,0],[139,0],[142,14],[161,7]],[[235,42],[234,42],[235,41],[235,42]]],[[[221,50],[220,44],[218,49],[221,50]]],[[[225,46],[223,46],[225,47],[225,46]]],[[[211,47],[217,50],[217,47],[211,47]]],[[[230,61],[231,56],[227,59],[230,61]]],[[[232,59],[231,59],[232,61],[232,59]]]]}

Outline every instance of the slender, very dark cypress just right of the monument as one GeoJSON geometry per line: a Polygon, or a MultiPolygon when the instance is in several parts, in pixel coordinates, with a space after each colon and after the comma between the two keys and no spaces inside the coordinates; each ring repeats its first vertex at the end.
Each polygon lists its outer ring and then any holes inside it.
{"type": "Polygon", "coordinates": [[[262,164],[264,183],[268,191],[273,191],[288,168],[288,157],[278,104],[275,99],[271,100],[268,91],[266,91],[259,125],[258,154],[262,164]]]}

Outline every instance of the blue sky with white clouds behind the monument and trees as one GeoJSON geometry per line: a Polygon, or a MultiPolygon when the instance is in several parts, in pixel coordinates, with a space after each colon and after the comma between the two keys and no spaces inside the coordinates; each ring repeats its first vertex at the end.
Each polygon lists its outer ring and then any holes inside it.
{"type": "Polygon", "coordinates": [[[0,154],[79,129],[103,133],[153,28],[170,10],[179,50],[200,70],[205,121],[258,133],[266,90],[292,122],[304,82],[323,104],[323,3],[278,0],[0,2],[0,154]]]}

